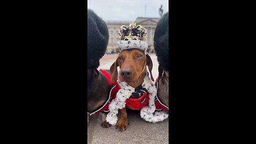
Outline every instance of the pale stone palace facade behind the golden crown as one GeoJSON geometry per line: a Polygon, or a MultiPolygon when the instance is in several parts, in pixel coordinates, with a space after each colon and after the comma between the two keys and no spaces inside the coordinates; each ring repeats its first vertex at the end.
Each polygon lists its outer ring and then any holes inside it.
{"type": "MultiPolygon", "coordinates": [[[[141,25],[143,28],[147,29],[146,39],[143,41],[148,43],[148,52],[154,51],[154,34],[157,22],[160,18],[142,18],[138,17],[135,22],[136,25],[141,25]]],[[[118,47],[116,45],[119,41],[118,31],[122,25],[128,27],[131,21],[105,21],[108,26],[109,31],[109,42],[106,53],[118,52],[118,47]]]]}

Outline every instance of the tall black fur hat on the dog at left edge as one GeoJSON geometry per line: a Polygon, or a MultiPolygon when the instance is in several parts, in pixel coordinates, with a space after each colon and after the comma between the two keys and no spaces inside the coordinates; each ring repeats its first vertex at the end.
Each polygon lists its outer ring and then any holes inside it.
{"type": "Polygon", "coordinates": [[[98,68],[107,50],[108,27],[92,10],[87,9],[87,69],[98,68]]]}

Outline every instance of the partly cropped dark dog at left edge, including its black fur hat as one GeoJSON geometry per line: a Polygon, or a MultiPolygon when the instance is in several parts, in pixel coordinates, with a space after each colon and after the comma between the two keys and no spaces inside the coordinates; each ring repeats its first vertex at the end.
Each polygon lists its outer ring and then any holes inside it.
{"type": "MultiPolygon", "coordinates": [[[[89,116],[97,114],[109,99],[109,83],[98,71],[100,59],[107,50],[108,28],[106,23],[92,10],[87,10],[87,125],[89,116]]],[[[110,73],[110,71],[107,71],[110,73]]],[[[106,114],[102,114],[102,126],[109,127],[106,114]]]]}

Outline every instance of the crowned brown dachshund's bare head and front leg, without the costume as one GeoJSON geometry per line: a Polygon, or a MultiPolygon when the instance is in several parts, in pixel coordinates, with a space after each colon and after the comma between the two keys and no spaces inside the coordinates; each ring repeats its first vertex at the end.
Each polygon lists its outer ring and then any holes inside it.
{"type": "MultiPolygon", "coordinates": [[[[145,63],[148,66],[151,80],[154,81],[151,70],[153,68],[153,62],[149,55],[145,57],[145,53],[139,49],[124,50],[119,53],[116,61],[110,67],[111,82],[116,81],[118,76],[117,67],[119,66],[119,80],[126,82],[130,86],[136,88],[140,86],[146,76],[145,63]]],[[[127,108],[133,109],[126,105],[127,108]]],[[[126,107],[119,109],[119,121],[116,124],[116,129],[121,131],[126,130],[129,122],[127,120],[126,107]]]]}

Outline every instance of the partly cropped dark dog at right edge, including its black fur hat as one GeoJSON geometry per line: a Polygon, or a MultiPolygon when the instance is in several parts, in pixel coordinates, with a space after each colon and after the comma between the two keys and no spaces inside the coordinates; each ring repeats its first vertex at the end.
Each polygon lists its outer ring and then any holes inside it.
{"type": "Polygon", "coordinates": [[[157,97],[169,109],[169,12],[158,21],[154,35],[158,66],[157,97]]]}

